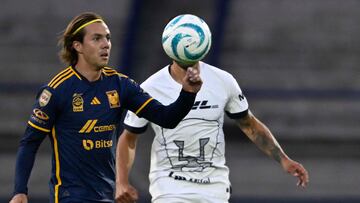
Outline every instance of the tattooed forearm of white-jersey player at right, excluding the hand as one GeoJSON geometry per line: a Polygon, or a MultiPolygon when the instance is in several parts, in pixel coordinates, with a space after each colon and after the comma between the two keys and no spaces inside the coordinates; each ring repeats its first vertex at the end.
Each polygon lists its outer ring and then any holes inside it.
{"type": "Polygon", "coordinates": [[[252,114],[248,115],[246,122],[240,121],[240,128],[249,137],[249,139],[264,153],[277,162],[281,162],[283,158],[288,158],[277,142],[271,131],[252,114]]]}

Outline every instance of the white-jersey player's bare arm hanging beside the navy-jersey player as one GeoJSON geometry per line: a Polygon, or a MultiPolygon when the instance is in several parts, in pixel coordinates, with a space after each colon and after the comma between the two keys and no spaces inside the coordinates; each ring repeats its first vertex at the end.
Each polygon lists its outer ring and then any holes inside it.
{"type": "Polygon", "coordinates": [[[134,202],[137,190],[129,184],[129,173],[135,159],[137,134],[124,130],[116,148],[116,194],[117,203],[134,202]]]}

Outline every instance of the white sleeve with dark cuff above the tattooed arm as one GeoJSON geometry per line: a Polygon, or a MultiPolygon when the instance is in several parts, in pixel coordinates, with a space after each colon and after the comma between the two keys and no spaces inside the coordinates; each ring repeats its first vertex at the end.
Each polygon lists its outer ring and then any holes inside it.
{"type": "Polygon", "coordinates": [[[247,99],[233,76],[229,75],[229,79],[226,81],[229,100],[226,103],[225,112],[232,119],[242,118],[248,113],[249,104],[247,99]]]}

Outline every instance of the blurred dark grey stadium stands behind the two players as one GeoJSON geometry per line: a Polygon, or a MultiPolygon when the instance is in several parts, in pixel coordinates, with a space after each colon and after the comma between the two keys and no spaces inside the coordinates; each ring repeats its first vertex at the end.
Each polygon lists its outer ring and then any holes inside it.
{"type": "MultiPolygon", "coordinates": [[[[0,6],[0,202],[11,197],[15,155],[37,88],[65,65],[58,34],[80,12],[103,15],[111,65],[142,82],[169,62],[161,33],[178,14],[213,32],[205,59],[231,72],[250,108],[310,173],[306,190],[226,120],[231,202],[360,202],[360,1],[2,0],[0,6]]],[[[139,140],[131,181],[147,192],[152,132],[139,140]]],[[[50,144],[38,153],[30,202],[47,202],[50,144]]]]}

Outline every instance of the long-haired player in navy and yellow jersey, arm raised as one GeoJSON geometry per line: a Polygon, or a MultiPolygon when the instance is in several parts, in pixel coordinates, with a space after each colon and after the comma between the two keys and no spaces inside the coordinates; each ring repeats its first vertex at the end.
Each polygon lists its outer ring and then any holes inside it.
{"type": "Polygon", "coordinates": [[[106,67],[110,31],[103,18],[82,13],[69,23],[60,56],[69,67],[44,85],[21,139],[11,203],[27,202],[27,183],[38,147],[49,136],[53,149],[50,202],[113,202],[113,135],[124,109],[165,128],[190,111],[202,80],[188,69],[177,100],[162,105],[127,76],[106,67]]]}

